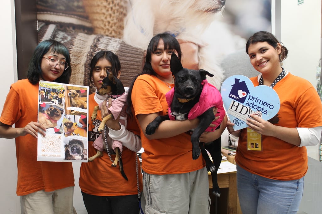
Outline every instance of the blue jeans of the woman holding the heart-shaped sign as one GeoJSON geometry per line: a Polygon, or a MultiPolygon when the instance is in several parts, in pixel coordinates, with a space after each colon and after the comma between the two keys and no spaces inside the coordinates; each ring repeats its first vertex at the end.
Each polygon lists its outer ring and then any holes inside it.
{"type": "Polygon", "coordinates": [[[251,174],[237,165],[237,191],[242,213],[296,214],[303,188],[304,177],[291,181],[273,180],[251,174]]]}

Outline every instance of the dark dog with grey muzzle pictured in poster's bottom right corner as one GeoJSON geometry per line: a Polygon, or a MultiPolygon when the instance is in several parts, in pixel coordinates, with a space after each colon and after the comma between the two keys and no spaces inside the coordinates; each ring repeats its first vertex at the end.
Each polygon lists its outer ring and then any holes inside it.
{"type": "Polygon", "coordinates": [[[83,141],[72,139],[65,145],[65,160],[85,160],[83,152],[83,141]]]}

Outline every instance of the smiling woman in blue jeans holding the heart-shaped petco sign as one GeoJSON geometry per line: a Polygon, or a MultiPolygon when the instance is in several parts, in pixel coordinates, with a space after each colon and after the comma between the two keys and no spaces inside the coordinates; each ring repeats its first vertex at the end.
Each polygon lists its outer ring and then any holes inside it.
{"type": "Polygon", "coordinates": [[[297,213],[308,170],[305,146],[317,145],[321,138],[321,100],[307,80],[281,67],[288,50],[271,33],[252,35],[246,52],[260,72],[252,83],[273,88],[280,109],[269,121],[250,115],[249,127],[242,130],[234,131],[227,122],[228,131],[239,137],[235,161],[242,213],[297,213]],[[261,151],[247,149],[247,129],[260,134],[261,151]]]}

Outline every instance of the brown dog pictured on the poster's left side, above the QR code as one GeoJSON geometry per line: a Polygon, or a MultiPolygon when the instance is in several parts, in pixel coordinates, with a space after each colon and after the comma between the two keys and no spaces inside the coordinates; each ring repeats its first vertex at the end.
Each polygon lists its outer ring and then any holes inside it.
{"type": "Polygon", "coordinates": [[[57,126],[57,120],[62,117],[63,110],[50,105],[44,112],[39,111],[38,122],[46,129],[57,126]]]}

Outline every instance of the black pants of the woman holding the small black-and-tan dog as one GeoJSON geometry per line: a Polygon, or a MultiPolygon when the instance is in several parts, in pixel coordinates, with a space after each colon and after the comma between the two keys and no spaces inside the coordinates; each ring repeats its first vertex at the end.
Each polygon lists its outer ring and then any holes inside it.
{"type": "Polygon", "coordinates": [[[137,195],[97,196],[81,192],[89,214],[138,214],[137,195]]]}

